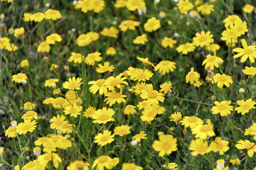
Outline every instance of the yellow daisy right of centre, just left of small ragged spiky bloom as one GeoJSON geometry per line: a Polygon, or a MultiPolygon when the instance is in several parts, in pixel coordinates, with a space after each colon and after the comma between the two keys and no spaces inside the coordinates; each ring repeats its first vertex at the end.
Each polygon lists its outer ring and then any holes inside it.
{"type": "Polygon", "coordinates": [[[141,91],[140,97],[150,103],[159,103],[165,101],[165,94],[159,93],[153,89],[152,84],[148,84],[147,89],[141,91]]]}

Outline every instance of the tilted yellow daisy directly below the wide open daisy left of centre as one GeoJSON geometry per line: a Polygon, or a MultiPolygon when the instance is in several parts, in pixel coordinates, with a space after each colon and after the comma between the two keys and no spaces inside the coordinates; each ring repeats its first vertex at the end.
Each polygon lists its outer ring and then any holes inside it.
{"type": "Polygon", "coordinates": [[[96,137],[94,138],[94,142],[98,143],[98,145],[101,145],[101,147],[103,147],[103,146],[113,142],[114,136],[115,135],[111,135],[111,131],[104,130],[103,134],[99,133],[98,135],[96,135],[96,137]]]}

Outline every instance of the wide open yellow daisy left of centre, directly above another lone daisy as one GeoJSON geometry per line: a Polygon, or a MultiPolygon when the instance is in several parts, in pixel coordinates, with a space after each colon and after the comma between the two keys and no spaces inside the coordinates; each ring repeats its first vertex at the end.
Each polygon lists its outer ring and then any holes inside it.
{"type": "Polygon", "coordinates": [[[91,116],[92,119],[94,119],[93,123],[103,123],[106,124],[108,122],[114,121],[112,118],[115,111],[113,111],[112,108],[102,108],[98,109],[94,115],[91,116]]]}

